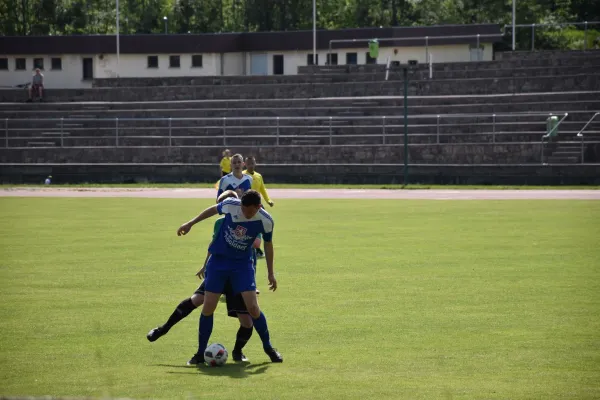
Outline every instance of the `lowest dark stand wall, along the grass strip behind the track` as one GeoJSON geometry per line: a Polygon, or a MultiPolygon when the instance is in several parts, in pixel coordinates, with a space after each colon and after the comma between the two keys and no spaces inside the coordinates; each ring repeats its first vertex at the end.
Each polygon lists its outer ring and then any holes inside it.
{"type": "MultiPolygon", "coordinates": [[[[52,175],[64,183],[214,182],[216,164],[189,165],[10,165],[0,169],[0,183],[37,183],[52,175]]],[[[261,164],[269,183],[378,183],[403,182],[403,165],[261,164]]],[[[409,165],[409,183],[578,185],[600,184],[598,165],[409,165]]]]}

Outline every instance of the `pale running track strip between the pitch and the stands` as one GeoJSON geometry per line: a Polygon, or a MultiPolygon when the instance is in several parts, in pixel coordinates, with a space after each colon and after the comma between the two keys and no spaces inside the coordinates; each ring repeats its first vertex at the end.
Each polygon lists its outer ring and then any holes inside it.
{"type": "MultiPolygon", "coordinates": [[[[600,190],[270,189],[273,199],[600,200],[600,190]]],[[[14,188],[0,197],[145,197],[212,199],[214,189],[14,188]]]]}

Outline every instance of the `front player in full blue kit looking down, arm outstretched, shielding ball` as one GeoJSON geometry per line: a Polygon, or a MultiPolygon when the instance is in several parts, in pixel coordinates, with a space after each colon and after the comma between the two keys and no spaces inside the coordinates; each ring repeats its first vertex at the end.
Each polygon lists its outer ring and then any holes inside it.
{"type": "Polygon", "coordinates": [[[198,222],[216,214],[225,219],[216,239],[211,243],[211,254],[206,264],[204,304],[200,314],[198,351],[194,358],[204,360],[208,340],[213,328],[213,313],[225,283],[231,280],[234,293],[241,293],[252,317],[254,329],[263,343],[263,350],[272,362],[283,362],[281,354],[271,345],[267,319],[258,306],[256,279],[252,265],[252,243],[259,233],[265,241],[269,289],[277,290],[273,269],[273,219],[261,206],[260,194],[249,190],[242,199],[227,199],[202,211],[196,218],[177,229],[177,235],[186,235],[198,222]]]}

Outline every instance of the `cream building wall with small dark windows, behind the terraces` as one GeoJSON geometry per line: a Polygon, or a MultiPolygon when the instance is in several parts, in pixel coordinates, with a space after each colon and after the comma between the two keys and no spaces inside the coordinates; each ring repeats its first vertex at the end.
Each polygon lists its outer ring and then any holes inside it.
{"type": "MultiPolygon", "coordinates": [[[[482,43],[483,61],[493,59],[492,45],[482,43]]],[[[338,55],[338,65],[346,64],[347,53],[357,53],[358,64],[366,63],[366,53],[368,49],[333,49],[333,53],[338,55]]],[[[268,74],[273,74],[273,56],[283,55],[284,74],[298,74],[298,67],[307,65],[307,55],[309,51],[287,51],[287,52],[266,52],[268,74]]],[[[319,64],[324,65],[327,60],[328,50],[319,50],[319,64]]],[[[470,61],[471,53],[469,45],[447,45],[431,46],[429,53],[433,55],[434,62],[459,62],[470,61]]],[[[388,57],[392,61],[402,63],[408,60],[418,60],[419,63],[426,62],[427,51],[425,47],[381,47],[378,64],[385,64],[388,57]]],[[[203,65],[201,68],[192,67],[191,54],[121,54],[117,63],[116,54],[91,54],[91,55],[25,55],[25,56],[2,56],[8,59],[8,70],[0,70],[0,86],[14,86],[31,80],[33,72],[33,59],[44,58],[44,76],[46,78],[47,88],[89,88],[91,82],[83,80],[82,59],[84,57],[93,58],[93,69],[95,78],[114,78],[120,77],[180,77],[180,76],[219,76],[219,75],[249,75],[251,53],[225,53],[223,56],[218,53],[202,54],[203,65]],[[180,57],[180,67],[171,68],[169,66],[169,56],[178,55],[180,57]],[[158,68],[148,68],[148,56],[158,56],[158,68]],[[60,57],[62,59],[62,70],[51,69],[51,58],[60,57]],[[27,68],[24,71],[15,70],[15,59],[26,58],[27,68]],[[222,64],[222,65],[221,65],[222,64]]]]}

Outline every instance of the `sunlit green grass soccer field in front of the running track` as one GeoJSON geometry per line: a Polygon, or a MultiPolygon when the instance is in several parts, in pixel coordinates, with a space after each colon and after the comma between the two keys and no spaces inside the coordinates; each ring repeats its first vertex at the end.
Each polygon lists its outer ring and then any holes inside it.
{"type": "MultiPolygon", "coordinates": [[[[283,364],[186,367],[207,199],[0,198],[0,395],[598,399],[600,201],[279,200],[269,293],[283,364]]],[[[232,349],[237,320],[215,314],[232,349]]]]}

